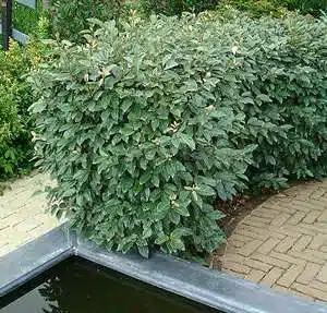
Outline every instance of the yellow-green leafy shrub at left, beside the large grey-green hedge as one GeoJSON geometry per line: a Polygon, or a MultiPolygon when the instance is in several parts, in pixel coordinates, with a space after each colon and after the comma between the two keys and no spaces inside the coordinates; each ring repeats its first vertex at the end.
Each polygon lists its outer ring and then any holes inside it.
{"type": "Polygon", "coordinates": [[[22,48],[11,43],[0,50],[0,179],[31,170],[34,120],[27,111],[34,99],[26,75],[41,58],[40,38],[46,22],[40,20],[32,43],[22,48]]]}

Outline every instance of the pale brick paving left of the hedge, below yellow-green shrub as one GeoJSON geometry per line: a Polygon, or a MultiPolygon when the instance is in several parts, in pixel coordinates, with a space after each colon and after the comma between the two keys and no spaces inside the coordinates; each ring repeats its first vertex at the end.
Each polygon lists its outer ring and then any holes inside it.
{"type": "Polygon", "coordinates": [[[36,194],[48,183],[47,176],[34,172],[14,181],[0,196],[0,257],[59,225],[45,213],[45,194],[36,194]]]}

